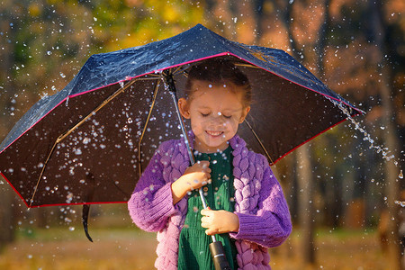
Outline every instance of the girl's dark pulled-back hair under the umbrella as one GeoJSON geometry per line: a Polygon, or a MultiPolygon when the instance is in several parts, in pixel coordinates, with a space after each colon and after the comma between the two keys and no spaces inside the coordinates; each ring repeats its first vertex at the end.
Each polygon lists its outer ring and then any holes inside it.
{"type": "Polygon", "coordinates": [[[242,90],[244,107],[250,105],[252,101],[252,87],[247,76],[229,60],[210,58],[191,67],[184,89],[186,98],[193,96],[194,80],[210,82],[212,85],[232,83],[242,90]]]}

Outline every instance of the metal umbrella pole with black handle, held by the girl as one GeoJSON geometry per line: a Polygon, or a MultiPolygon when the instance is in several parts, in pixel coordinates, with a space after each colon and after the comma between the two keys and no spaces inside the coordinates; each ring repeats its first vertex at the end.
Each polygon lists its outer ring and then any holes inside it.
{"type": "MultiPolygon", "coordinates": [[[[175,80],[170,72],[163,73],[163,81],[165,83],[166,90],[172,95],[173,103],[175,103],[175,112],[177,113],[178,121],[180,123],[180,127],[184,137],[184,143],[187,147],[188,156],[190,157],[190,163],[193,166],[195,164],[195,160],[193,157],[193,150],[190,146],[190,142],[187,136],[187,132],[185,130],[184,121],[180,111],[178,109],[178,99],[175,89],[175,80]]],[[[198,189],[198,193],[200,193],[200,198],[202,201],[202,206],[204,209],[207,209],[207,202],[205,202],[204,194],[202,193],[202,188],[198,189]]],[[[215,235],[211,236],[212,243],[209,245],[211,251],[211,257],[213,264],[215,266],[215,270],[230,270],[229,263],[227,257],[225,256],[225,251],[222,247],[222,243],[217,241],[215,235]]]]}

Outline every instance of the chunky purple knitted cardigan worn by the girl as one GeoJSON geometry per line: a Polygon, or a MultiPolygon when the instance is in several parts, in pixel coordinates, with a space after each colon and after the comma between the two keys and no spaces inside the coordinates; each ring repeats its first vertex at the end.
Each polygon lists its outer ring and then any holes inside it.
{"type": "MultiPolygon", "coordinates": [[[[191,133],[191,143],[193,134],[191,133]]],[[[238,135],[229,139],[233,149],[238,269],[270,269],[267,247],[284,242],[292,223],[284,193],[266,157],[247,150],[238,135]]],[[[192,146],[193,147],[193,146],[192,146]]],[[[183,139],[163,142],[150,159],[135,187],[128,209],[140,228],[157,231],[157,269],[177,269],[178,241],[187,212],[187,196],[173,205],[171,184],[184,174],[190,159],[183,139]]]]}

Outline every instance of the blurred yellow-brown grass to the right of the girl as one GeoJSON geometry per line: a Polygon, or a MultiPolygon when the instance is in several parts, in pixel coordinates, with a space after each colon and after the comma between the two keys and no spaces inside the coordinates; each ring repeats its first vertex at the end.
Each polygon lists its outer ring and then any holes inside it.
{"type": "Polygon", "coordinates": [[[304,266],[301,232],[295,231],[282,247],[270,250],[273,269],[392,269],[380,248],[378,234],[365,229],[319,229],[315,238],[316,263],[304,266]]]}

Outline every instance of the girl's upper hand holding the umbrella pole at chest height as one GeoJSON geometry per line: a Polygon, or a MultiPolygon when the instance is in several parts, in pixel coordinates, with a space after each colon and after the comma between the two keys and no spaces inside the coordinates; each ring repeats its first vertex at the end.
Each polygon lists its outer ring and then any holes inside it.
{"type": "Polygon", "coordinates": [[[209,161],[198,161],[185,169],[184,175],[172,184],[173,204],[179,202],[186,193],[202,187],[211,181],[209,161]]]}

